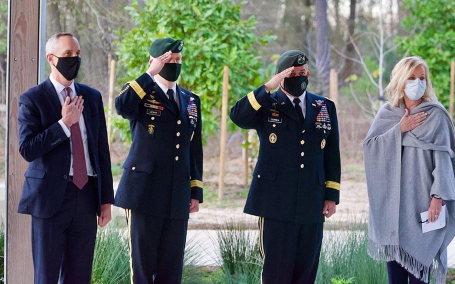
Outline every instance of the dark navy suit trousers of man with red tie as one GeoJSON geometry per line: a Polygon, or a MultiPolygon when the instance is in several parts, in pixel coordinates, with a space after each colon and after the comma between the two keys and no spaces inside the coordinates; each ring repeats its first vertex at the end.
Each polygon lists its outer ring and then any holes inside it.
{"type": "Polygon", "coordinates": [[[35,284],[89,284],[96,238],[96,178],[82,189],[68,181],[63,202],[50,218],[31,216],[35,284]]]}

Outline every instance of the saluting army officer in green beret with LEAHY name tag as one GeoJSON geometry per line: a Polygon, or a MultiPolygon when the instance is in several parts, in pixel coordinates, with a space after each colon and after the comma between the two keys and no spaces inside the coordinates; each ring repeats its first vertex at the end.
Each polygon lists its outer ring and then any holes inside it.
{"type": "Polygon", "coordinates": [[[180,283],[188,213],[202,202],[199,97],[175,81],[183,40],[160,38],[150,66],[115,99],[132,144],[115,205],[129,227],[131,283],[180,283]]]}

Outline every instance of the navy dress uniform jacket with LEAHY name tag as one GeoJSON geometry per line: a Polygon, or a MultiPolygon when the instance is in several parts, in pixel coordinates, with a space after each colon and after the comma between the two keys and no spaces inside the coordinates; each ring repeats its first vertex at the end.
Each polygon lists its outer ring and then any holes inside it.
{"type": "Polygon", "coordinates": [[[178,112],[143,73],[126,83],[115,99],[117,113],[129,119],[132,136],[116,206],[187,219],[190,198],[202,202],[200,99],[179,86],[176,93],[178,112]]]}

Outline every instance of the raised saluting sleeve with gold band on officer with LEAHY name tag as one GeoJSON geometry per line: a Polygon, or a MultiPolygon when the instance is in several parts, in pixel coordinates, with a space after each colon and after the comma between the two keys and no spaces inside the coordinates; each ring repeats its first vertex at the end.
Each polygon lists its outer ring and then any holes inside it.
{"type": "Polygon", "coordinates": [[[127,82],[115,98],[115,110],[123,118],[134,120],[139,115],[139,104],[142,98],[151,91],[156,83],[143,73],[133,81],[127,82]]]}

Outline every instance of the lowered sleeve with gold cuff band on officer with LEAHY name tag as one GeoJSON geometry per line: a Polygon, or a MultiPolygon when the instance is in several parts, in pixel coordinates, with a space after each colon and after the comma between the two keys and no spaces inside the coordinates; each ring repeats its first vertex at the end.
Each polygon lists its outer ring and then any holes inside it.
{"type": "Polygon", "coordinates": [[[196,127],[194,128],[194,134],[189,145],[189,167],[191,178],[189,185],[191,187],[191,198],[199,200],[199,203],[203,202],[202,194],[202,117],[200,111],[200,99],[195,97],[197,104],[197,115],[199,119],[196,121],[196,127]]]}

